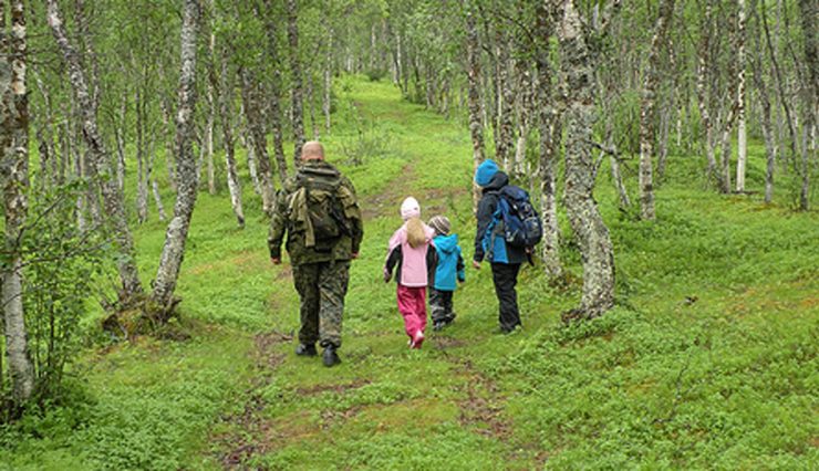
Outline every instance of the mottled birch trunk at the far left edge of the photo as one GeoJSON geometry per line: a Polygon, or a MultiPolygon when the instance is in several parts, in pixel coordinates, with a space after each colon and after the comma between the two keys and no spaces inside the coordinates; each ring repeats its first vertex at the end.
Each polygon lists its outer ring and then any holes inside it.
{"type": "MultiPolygon", "coordinates": [[[[34,390],[23,313],[21,237],[28,213],[29,187],[29,103],[25,90],[25,12],[22,0],[11,3],[11,34],[7,38],[6,2],[0,3],[0,139],[3,216],[8,261],[2,269],[3,334],[9,357],[11,393],[19,406],[34,390]]],[[[1,374],[0,374],[1,375],[1,374]]]]}

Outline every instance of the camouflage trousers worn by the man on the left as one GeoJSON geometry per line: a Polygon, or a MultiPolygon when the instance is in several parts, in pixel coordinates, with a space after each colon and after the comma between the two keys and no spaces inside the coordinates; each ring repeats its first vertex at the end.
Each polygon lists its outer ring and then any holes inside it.
{"type": "Polygon", "coordinates": [[[293,282],[301,299],[299,342],[322,347],[341,346],[341,320],[350,281],[350,261],[304,263],[293,266],[293,282]]]}

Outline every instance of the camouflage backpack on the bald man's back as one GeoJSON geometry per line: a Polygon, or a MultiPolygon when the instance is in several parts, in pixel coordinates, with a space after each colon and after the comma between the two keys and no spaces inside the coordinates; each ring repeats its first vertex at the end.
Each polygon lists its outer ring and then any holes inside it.
{"type": "Polygon", "coordinates": [[[343,236],[352,234],[350,219],[357,205],[338,170],[304,166],[296,175],[296,185],[290,213],[294,228],[305,233],[305,247],[332,250],[343,236]]]}

